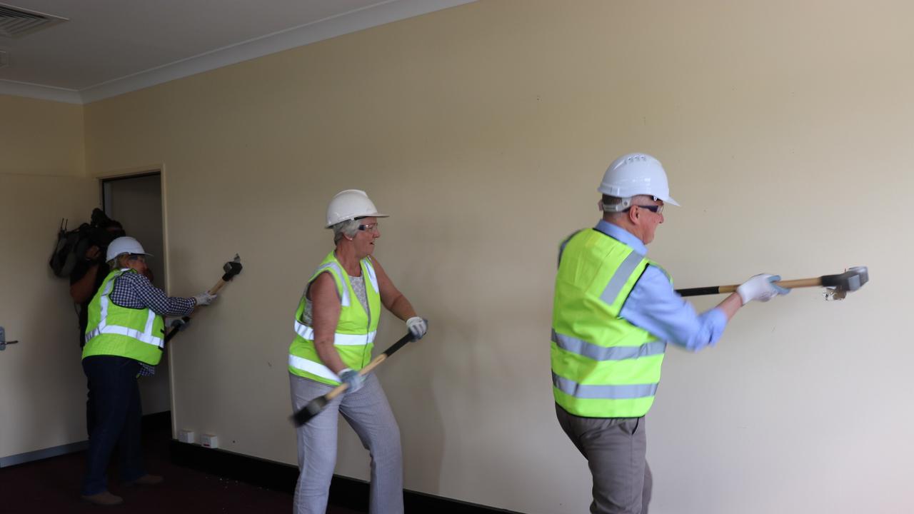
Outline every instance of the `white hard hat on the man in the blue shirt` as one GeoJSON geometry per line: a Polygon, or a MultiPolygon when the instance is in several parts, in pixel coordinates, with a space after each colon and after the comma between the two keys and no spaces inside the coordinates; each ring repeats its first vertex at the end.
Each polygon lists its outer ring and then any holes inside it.
{"type": "MultiPolygon", "coordinates": [[[[616,198],[632,198],[635,195],[649,195],[664,200],[664,203],[679,205],[670,198],[670,186],[660,161],[647,154],[626,154],[612,161],[603,174],[603,181],[597,188],[600,193],[616,198]]],[[[625,209],[631,202],[618,204],[625,209]]],[[[610,206],[606,206],[609,208],[610,206]]]]}

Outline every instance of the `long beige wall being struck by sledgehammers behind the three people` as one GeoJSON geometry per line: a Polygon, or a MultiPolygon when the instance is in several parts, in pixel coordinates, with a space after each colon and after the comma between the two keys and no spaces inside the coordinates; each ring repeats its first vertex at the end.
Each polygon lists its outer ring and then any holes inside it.
{"type": "MultiPolygon", "coordinates": [[[[675,198],[651,255],[679,286],[870,266],[844,303],[797,291],[717,348],[671,348],[648,416],[657,513],[901,512],[914,457],[914,33],[903,2],[483,1],[86,107],[87,168],[163,163],[173,294],[245,271],[171,363],[175,424],[295,461],[292,312],[331,249],[326,201],[366,189],[377,256],[427,340],[379,371],[406,486],[582,512],[555,421],[555,252],[595,222],[617,155],[660,157],[675,198]]],[[[696,302],[705,308],[716,299],[696,302]]],[[[403,333],[386,316],[383,347],[403,333]]],[[[367,477],[348,429],[337,472],[367,477]]]]}

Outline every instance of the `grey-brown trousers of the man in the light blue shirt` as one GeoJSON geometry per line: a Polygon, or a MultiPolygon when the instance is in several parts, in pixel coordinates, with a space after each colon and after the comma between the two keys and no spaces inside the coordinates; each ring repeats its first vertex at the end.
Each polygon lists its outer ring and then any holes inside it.
{"type": "Polygon", "coordinates": [[[556,404],[562,430],[593,476],[592,514],[647,514],[654,481],[644,454],[644,418],[582,418],[556,404]]]}

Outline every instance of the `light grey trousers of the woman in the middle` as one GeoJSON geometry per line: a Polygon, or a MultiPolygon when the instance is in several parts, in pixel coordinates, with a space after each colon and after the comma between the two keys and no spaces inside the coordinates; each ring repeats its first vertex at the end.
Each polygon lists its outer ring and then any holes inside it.
{"type": "MultiPolygon", "coordinates": [[[[297,412],[308,402],[323,396],[332,386],[289,374],[292,409],[297,412]]],[[[327,403],[324,411],[300,426],[298,434],[298,485],[295,487],[296,514],[324,514],[330,480],[336,466],[336,413],[356,431],[371,455],[371,514],[403,513],[403,455],[399,426],[374,373],[356,392],[345,392],[327,403]]]]}

